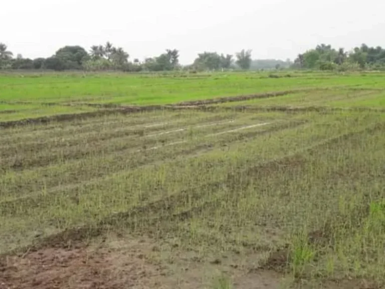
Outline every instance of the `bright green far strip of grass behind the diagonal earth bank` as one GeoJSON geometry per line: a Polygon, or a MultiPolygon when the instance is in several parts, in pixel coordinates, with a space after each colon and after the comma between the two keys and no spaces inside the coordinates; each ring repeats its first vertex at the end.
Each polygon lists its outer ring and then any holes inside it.
{"type": "Polygon", "coordinates": [[[220,96],[261,93],[306,87],[382,87],[378,77],[336,74],[319,77],[266,78],[258,73],[213,74],[206,77],[125,74],[42,75],[0,77],[0,100],[35,102],[100,102],[164,104],[220,96]]]}

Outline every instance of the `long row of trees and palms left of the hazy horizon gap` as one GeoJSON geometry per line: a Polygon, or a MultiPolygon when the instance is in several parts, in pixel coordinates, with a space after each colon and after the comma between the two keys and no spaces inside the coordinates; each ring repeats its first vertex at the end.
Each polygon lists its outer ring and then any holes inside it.
{"type": "Polygon", "coordinates": [[[21,54],[14,57],[7,45],[0,43],[0,69],[52,69],[62,70],[121,70],[127,72],[139,71],[170,71],[170,70],[219,70],[219,69],[249,69],[251,65],[251,50],[242,50],[233,55],[223,55],[217,52],[200,53],[193,64],[179,64],[179,51],[167,49],[156,57],[139,61],[130,60],[129,54],[121,47],[115,47],[110,42],[105,45],[94,45],[87,52],[81,46],[65,46],[48,58],[29,59],[21,54]]]}

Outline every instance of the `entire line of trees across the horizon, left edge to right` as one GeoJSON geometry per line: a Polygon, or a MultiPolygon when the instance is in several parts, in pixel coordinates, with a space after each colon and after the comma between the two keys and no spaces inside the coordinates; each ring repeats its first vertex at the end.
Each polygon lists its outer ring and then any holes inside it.
{"type": "Polygon", "coordinates": [[[265,69],[312,69],[312,70],[385,70],[385,48],[369,47],[362,44],[351,51],[335,49],[331,45],[320,44],[297,56],[294,62],[265,59],[252,60],[251,50],[242,50],[231,54],[217,52],[199,53],[193,64],[182,66],[179,63],[179,51],[167,49],[164,53],[140,61],[130,60],[130,55],[121,47],[110,42],[94,45],[89,51],[81,46],[65,46],[48,58],[29,59],[21,54],[14,56],[7,45],[0,43],[0,69],[52,69],[52,70],[121,70],[171,71],[171,70],[265,70],[265,69]]]}

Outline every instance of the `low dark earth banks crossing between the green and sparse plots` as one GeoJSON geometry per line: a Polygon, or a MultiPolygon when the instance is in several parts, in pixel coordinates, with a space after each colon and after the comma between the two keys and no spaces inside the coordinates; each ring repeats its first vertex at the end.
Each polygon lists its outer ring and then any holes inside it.
{"type": "MultiPolygon", "coordinates": [[[[214,106],[213,104],[227,103],[227,102],[239,102],[259,98],[270,98],[277,96],[284,96],[292,93],[311,92],[311,91],[328,91],[332,89],[347,89],[347,90],[367,90],[367,91],[384,91],[383,89],[369,89],[369,88],[349,88],[345,86],[334,86],[326,88],[303,88],[303,89],[292,89],[284,91],[272,91],[257,94],[248,95],[237,95],[227,97],[217,97],[202,100],[191,100],[182,101],[178,103],[163,104],[163,105],[120,105],[115,103],[87,103],[87,102],[76,102],[74,103],[53,103],[53,102],[27,102],[27,101],[16,101],[7,102],[0,101],[0,103],[6,104],[36,104],[36,105],[47,105],[47,106],[90,106],[98,108],[95,111],[79,112],[79,113],[64,113],[56,114],[51,116],[40,116],[34,118],[25,118],[19,120],[0,121],[0,128],[10,128],[14,126],[23,126],[29,124],[45,124],[49,122],[62,122],[71,121],[74,119],[84,119],[88,117],[105,116],[114,113],[129,114],[138,113],[145,111],[156,111],[156,110],[183,110],[183,109],[197,109],[203,111],[211,110],[235,110],[235,111],[282,111],[282,112],[333,112],[333,111],[373,111],[373,112],[385,112],[385,108],[371,108],[371,107],[328,107],[328,106],[304,106],[304,107],[293,107],[293,106],[254,106],[254,105],[236,105],[236,106],[214,106]]],[[[13,113],[17,111],[5,110],[0,111],[1,113],[13,113]]]]}

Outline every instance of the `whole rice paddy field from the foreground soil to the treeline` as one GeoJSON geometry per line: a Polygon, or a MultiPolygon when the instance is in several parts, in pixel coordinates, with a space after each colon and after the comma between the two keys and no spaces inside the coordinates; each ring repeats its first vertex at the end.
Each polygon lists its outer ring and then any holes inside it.
{"type": "Polygon", "coordinates": [[[383,288],[385,74],[0,74],[0,288],[383,288]]]}

